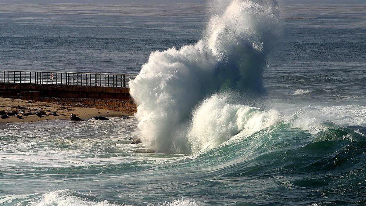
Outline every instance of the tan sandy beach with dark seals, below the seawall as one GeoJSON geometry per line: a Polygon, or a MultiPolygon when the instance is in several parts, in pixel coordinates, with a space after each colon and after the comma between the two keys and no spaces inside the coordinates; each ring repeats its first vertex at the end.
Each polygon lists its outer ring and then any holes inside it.
{"type": "Polygon", "coordinates": [[[37,122],[51,119],[69,119],[72,113],[82,119],[93,118],[95,116],[119,117],[128,115],[120,111],[68,107],[46,102],[9,98],[0,98],[0,111],[5,111],[6,113],[15,111],[21,116],[21,118],[18,118],[17,115],[8,115],[9,118],[0,119],[0,124],[6,124],[8,122],[37,122]],[[21,110],[24,110],[25,113],[32,113],[32,115],[24,115],[21,113],[21,110]],[[34,115],[34,113],[41,113],[42,111],[44,112],[44,115],[34,115]],[[56,112],[57,116],[51,115],[52,112],[56,112]]]}

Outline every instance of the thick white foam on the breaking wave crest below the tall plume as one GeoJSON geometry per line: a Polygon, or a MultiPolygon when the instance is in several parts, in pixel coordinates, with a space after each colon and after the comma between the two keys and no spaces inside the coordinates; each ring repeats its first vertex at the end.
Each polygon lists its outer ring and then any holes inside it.
{"type": "Polygon", "coordinates": [[[277,124],[281,114],[240,104],[228,104],[225,96],[206,99],[193,115],[188,139],[193,151],[216,147],[243,131],[247,135],[277,124]]]}

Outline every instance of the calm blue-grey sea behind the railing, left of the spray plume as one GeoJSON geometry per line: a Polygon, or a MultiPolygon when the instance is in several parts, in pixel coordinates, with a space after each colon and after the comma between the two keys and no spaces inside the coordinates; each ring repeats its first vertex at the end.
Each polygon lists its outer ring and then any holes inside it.
{"type": "Polygon", "coordinates": [[[202,4],[2,4],[0,10],[3,70],[136,74],[151,51],[195,43],[206,18],[202,4]]]}

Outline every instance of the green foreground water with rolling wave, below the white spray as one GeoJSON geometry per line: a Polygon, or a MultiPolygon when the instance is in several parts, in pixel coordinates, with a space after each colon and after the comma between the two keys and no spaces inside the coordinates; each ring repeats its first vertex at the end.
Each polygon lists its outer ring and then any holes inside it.
{"type": "MultiPolygon", "coordinates": [[[[135,121],[112,120],[130,126],[135,121]]],[[[323,129],[312,134],[280,122],[177,155],[130,145],[101,121],[12,125],[0,133],[4,206],[365,204],[362,127],[322,122],[323,129]],[[60,132],[60,124],[73,129],[60,132]],[[91,128],[108,135],[76,132],[91,128]]]]}

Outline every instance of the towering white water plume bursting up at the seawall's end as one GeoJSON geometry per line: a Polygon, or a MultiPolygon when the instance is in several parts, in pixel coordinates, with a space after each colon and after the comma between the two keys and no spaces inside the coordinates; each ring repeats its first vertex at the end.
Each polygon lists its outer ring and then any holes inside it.
{"type": "Polygon", "coordinates": [[[210,95],[228,89],[265,92],[262,72],[277,36],[276,1],[213,1],[211,6],[224,9],[212,12],[202,40],[152,52],[130,81],[141,139],[159,152],[197,150],[190,140],[199,133],[192,122],[199,120],[192,118],[202,115],[193,115],[194,108],[210,95]]]}

